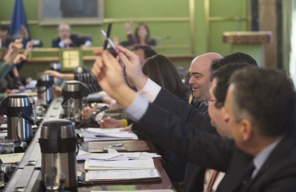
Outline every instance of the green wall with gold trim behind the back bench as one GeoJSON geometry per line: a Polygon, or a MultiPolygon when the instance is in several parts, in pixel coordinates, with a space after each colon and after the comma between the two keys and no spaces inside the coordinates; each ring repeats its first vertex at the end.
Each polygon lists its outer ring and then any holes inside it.
{"type": "MultiPolygon", "coordinates": [[[[23,0],[27,20],[38,20],[38,0],[23,0]]],[[[246,17],[246,0],[210,0],[210,17],[246,17]]],[[[0,0],[0,22],[9,21],[14,0],[0,0]]],[[[167,18],[189,17],[188,0],[105,0],[104,18],[167,18]]],[[[135,23],[136,25],[136,23],[135,23]]],[[[135,27],[134,25],[134,27],[135,27]]],[[[194,54],[206,52],[206,21],[204,0],[195,0],[194,40],[190,40],[189,21],[148,22],[152,36],[162,39],[161,45],[187,45],[194,41],[194,54]]],[[[222,43],[222,33],[231,30],[246,30],[246,21],[210,21],[209,51],[222,55],[230,53],[230,45],[222,43]]],[[[103,25],[73,25],[72,32],[90,35],[93,46],[102,46],[99,33],[103,25]]],[[[51,40],[57,37],[57,26],[39,26],[30,24],[31,38],[41,39],[44,47],[51,46],[51,40]]],[[[114,23],[111,36],[126,40],[124,23],[114,23]]],[[[188,47],[160,50],[162,54],[190,54],[188,47]]]]}

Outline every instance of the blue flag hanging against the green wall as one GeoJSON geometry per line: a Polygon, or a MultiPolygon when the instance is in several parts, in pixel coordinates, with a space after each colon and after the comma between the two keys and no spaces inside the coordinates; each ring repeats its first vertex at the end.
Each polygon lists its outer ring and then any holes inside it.
{"type": "Polygon", "coordinates": [[[13,39],[22,38],[22,43],[26,46],[27,42],[30,41],[30,34],[28,32],[27,19],[22,0],[15,0],[9,28],[10,37],[13,39]]]}

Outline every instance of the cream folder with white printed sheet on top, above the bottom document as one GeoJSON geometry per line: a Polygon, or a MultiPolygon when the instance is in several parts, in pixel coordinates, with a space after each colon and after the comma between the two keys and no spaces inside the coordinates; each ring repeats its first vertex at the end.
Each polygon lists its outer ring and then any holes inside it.
{"type": "Polygon", "coordinates": [[[153,159],[128,160],[128,161],[86,161],[85,170],[133,170],[155,169],[153,159]]]}

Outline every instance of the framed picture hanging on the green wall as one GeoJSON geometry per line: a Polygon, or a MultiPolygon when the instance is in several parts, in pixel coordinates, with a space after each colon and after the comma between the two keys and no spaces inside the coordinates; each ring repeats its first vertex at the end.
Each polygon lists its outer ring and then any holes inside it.
{"type": "Polygon", "coordinates": [[[38,0],[39,25],[102,24],[104,0],[38,0]]]}

